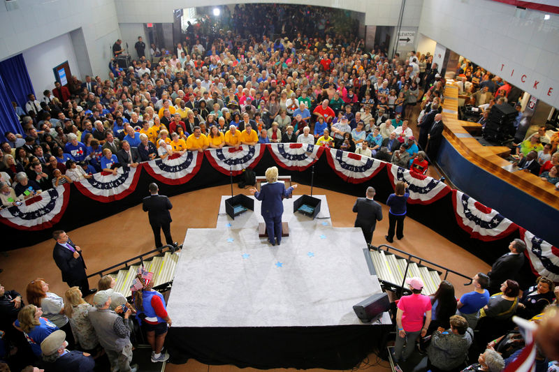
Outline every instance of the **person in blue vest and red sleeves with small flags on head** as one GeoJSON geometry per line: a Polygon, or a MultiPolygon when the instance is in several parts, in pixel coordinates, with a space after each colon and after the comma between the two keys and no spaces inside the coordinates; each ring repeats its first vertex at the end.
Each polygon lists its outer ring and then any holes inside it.
{"type": "Polygon", "coordinates": [[[152,281],[145,282],[141,274],[138,279],[143,284],[142,288],[134,292],[134,306],[138,311],[137,318],[145,329],[147,342],[152,347],[152,362],[165,362],[169,359],[167,353],[161,354],[165,336],[167,336],[167,325],[172,321],[166,310],[165,299],[161,293],[152,289],[152,281]]]}

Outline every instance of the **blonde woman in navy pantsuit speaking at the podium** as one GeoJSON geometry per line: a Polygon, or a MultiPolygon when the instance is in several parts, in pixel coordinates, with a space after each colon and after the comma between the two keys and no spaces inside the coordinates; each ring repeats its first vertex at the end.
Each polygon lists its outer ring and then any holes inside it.
{"type": "Polygon", "coordinates": [[[267,184],[263,184],[260,192],[256,188],[251,188],[250,193],[254,194],[256,200],[260,200],[260,214],[266,223],[266,231],[268,232],[268,241],[275,246],[282,244],[282,214],[284,213],[284,203],[282,200],[289,197],[293,193],[293,189],[297,188],[293,184],[290,188],[285,188],[284,184],[277,182],[277,167],[270,167],[266,170],[267,184]]]}

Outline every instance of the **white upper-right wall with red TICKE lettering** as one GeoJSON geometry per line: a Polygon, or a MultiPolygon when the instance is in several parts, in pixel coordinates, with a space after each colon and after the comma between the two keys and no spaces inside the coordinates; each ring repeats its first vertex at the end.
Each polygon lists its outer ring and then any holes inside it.
{"type": "Polygon", "coordinates": [[[559,107],[559,15],[491,0],[424,0],[421,14],[419,32],[559,107]]]}

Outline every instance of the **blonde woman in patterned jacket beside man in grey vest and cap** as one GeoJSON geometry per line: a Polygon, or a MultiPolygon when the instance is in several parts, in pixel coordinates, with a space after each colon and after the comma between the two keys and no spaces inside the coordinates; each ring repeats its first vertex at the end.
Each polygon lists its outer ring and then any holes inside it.
{"type": "Polygon", "coordinates": [[[79,287],[72,287],[64,293],[64,313],[68,317],[76,343],[80,345],[80,350],[96,355],[99,340],[87,315],[91,308],[93,306],[82,298],[79,287]]]}

